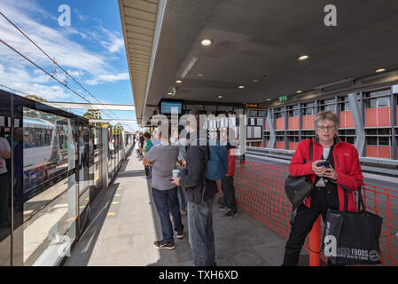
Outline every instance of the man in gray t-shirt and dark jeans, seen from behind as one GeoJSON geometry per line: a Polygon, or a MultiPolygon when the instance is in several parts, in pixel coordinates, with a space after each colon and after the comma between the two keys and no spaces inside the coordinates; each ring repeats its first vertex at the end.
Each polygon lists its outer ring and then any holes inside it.
{"type": "Polygon", "coordinates": [[[153,242],[155,248],[175,248],[173,238],[173,226],[170,221],[170,213],[174,220],[174,229],[177,238],[183,238],[183,223],[181,222],[180,209],[178,207],[177,187],[172,184],[172,170],[176,168],[178,158],[178,146],[170,146],[171,135],[169,126],[160,126],[158,139],[161,143],[152,146],[144,157],[144,164],[152,164],[152,197],[160,217],[163,240],[153,242]],[[162,138],[161,131],[167,131],[168,135],[162,138]]]}

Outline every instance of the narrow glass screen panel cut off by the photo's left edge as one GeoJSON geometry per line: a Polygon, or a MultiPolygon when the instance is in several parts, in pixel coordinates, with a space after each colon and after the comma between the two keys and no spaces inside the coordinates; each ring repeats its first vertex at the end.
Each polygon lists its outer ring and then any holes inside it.
{"type": "MultiPolygon", "coordinates": [[[[0,266],[11,265],[12,95],[0,91],[0,266]]],[[[20,122],[19,122],[20,123],[20,122]]],[[[18,124],[19,124],[18,123],[18,124]]],[[[14,124],[17,124],[14,120],[14,124]]],[[[17,125],[15,125],[17,126],[17,125]]],[[[20,127],[20,125],[18,125],[20,127]]],[[[15,149],[15,146],[13,146],[15,149]]],[[[15,150],[14,150],[15,151],[15,150]]]]}

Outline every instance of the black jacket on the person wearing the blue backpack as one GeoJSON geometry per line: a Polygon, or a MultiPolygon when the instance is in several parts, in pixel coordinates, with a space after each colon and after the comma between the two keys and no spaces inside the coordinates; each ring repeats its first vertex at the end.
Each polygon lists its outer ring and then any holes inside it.
{"type": "Polygon", "coordinates": [[[183,193],[190,202],[202,203],[214,197],[217,193],[215,181],[208,180],[203,175],[206,170],[208,155],[208,146],[192,146],[190,144],[187,147],[187,168],[183,177],[181,177],[180,184],[185,187],[183,193]]]}

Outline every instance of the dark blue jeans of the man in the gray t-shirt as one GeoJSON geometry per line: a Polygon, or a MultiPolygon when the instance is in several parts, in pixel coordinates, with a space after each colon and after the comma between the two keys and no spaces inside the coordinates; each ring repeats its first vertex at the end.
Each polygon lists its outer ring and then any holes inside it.
{"type": "Polygon", "coordinates": [[[173,216],[175,231],[183,231],[180,209],[178,208],[177,188],[175,187],[168,190],[157,190],[152,187],[152,196],[160,217],[163,241],[174,241],[170,213],[171,216],[173,216]]]}

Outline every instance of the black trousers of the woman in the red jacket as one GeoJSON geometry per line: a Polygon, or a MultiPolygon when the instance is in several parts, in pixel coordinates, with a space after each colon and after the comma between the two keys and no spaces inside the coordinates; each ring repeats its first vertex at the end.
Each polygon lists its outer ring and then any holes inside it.
{"type": "Polygon", "coordinates": [[[297,217],[294,220],[289,239],[285,245],[284,263],[282,266],[296,266],[298,264],[300,251],[308,233],[319,215],[324,219],[326,218],[327,209],[329,208],[326,188],[316,187],[311,193],[311,208],[302,204],[297,210],[297,217]]]}

